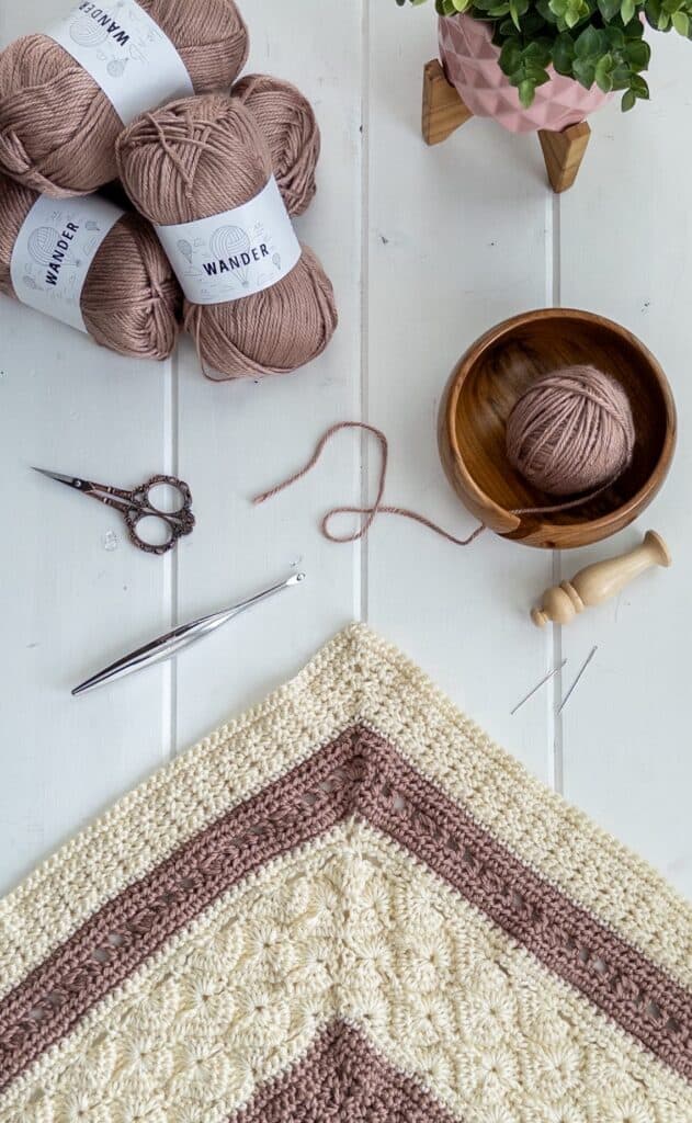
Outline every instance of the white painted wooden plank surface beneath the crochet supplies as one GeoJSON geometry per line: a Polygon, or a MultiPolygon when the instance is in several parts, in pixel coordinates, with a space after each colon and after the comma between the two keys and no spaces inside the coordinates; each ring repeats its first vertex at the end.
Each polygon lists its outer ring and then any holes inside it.
{"type": "MultiPolygon", "coordinates": [[[[0,42],[39,28],[48,0],[0,9],[0,42]]],[[[689,46],[656,42],[654,101],[611,106],[576,188],[547,190],[535,138],[471,121],[420,139],[431,9],[394,0],[264,0],[247,7],[251,67],[292,79],[324,130],[317,201],[300,236],[334,279],[340,328],[310,369],[212,385],[189,345],[137,365],[0,302],[0,893],[92,815],[201,734],[292,675],[338,628],[367,619],[408,651],[529,768],[692,895],[686,486],[692,451],[688,305],[689,46]],[[255,510],[248,496],[298,467],[334,421],[364,418],[391,441],[388,497],[458,532],[435,420],[449,369],[493,322],[563,303],[612,316],[666,366],[681,413],[671,481],[640,527],[552,557],[486,536],[456,549],[383,518],[367,542],[319,536],[331,503],[366,493],[376,449],[343,435],[300,486],[255,510]],[[104,482],[175,469],[199,524],[177,555],[138,554],[117,517],[35,476],[30,464],[104,482]],[[654,526],[679,565],[568,630],[527,610],[562,573],[654,526]],[[107,532],[118,535],[108,549],[107,532]],[[251,593],[295,562],[309,583],[169,665],[80,702],[69,687],[185,619],[251,593]],[[599,652],[564,720],[561,683],[512,704],[568,657],[567,685],[599,652]]]]}

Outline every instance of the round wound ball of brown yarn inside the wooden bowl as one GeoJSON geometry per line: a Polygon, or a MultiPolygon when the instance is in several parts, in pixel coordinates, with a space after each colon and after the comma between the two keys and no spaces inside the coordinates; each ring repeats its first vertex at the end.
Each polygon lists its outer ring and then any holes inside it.
{"type": "Polygon", "coordinates": [[[634,448],[627,394],[593,366],[538,378],[507,422],[510,464],[550,495],[577,495],[617,480],[634,448]]]}

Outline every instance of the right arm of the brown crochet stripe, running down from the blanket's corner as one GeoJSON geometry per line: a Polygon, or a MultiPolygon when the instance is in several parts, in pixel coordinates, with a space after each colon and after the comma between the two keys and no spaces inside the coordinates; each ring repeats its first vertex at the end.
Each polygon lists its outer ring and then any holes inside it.
{"type": "MultiPolygon", "coordinates": [[[[367,761],[371,766],[372,758],[367,761]]],[[[692,994],[483,830],[390,748],[358,811],[692,1081],[692,994]]]]}

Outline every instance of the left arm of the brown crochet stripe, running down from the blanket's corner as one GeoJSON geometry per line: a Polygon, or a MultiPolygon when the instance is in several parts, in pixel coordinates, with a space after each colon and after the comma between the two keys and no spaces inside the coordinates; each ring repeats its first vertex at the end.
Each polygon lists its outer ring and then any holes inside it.
{"type": "Polygon", "coordinates": [[[354,809],[367,746],[343,733],[181,846],[0,1002],[0,1092],[224,893],[354,809]]]}

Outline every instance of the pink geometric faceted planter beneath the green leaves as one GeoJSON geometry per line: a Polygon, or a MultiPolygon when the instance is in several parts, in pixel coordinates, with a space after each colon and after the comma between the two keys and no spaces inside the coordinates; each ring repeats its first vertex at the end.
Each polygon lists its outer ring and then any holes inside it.
{"type": "Polygon", "coordinates": [[[448,81],[471,112],[494,117],[510,133],[559,133],[611,98],[595,85],[585,90],[549,67],[550,81],[538,86],[532,106],[523,109],[516,88],[500,70],[500,51],[492,43],[490,26],[471,16],[440,17],[439,52],[448,81]]]}

